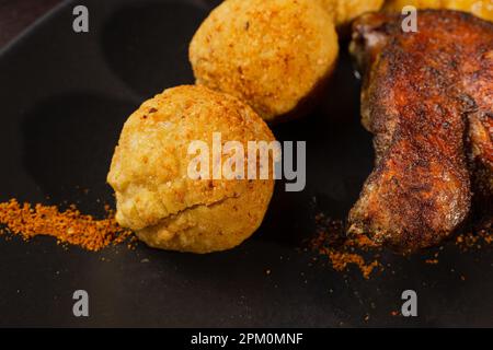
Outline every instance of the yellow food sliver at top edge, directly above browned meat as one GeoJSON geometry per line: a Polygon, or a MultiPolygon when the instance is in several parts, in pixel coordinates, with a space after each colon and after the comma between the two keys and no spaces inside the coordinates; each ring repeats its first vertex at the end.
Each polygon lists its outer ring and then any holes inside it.
{"type": "Polygon", "coordinates": [[[493,22],[492,0],[388,0],[385,9],[400,12],[405,5],[413,5],[416,9],[458,10],[493,22]]]}

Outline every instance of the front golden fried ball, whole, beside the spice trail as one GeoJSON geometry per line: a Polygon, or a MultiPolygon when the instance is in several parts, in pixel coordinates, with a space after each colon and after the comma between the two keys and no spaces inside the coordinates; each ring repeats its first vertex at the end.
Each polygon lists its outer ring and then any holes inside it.
{"type": "MultiPolygon", "coordinates": [[[[251,107],[204,86],[169,89],[145,102],[125,122],[107,175],[117,222],[162,249],[209,253],[248,238],[263,220],[274,177],[191,177],[191,142],[213,150],[215,132],[222,143],[238,141],[245,150],[248,141],[275,140],[251,107]]],[[[210,167],[230,158],[209,154],[210,167]]]]}

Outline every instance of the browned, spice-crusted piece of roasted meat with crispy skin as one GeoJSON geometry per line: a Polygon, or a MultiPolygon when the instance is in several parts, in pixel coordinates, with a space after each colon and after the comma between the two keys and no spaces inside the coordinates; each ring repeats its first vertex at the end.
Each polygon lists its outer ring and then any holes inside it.
{"type": "Polygon", "coordinates": [[[353,26],[376,164],[348,231],[411,253],[460,226],[473,189],[492,214],[493,24],[433,10],[417,13],[416,33],[401,23],[372,13],[353,26]]]}

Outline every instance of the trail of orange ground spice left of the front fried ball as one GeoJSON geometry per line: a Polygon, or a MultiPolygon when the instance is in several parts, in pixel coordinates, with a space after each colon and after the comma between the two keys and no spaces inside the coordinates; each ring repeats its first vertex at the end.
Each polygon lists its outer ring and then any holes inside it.
{"type": "Polygon", "coordinates": [[[16,199],[0,203],[0,224],[25,241],[37,235],[49,235],[57,243],[78,245],[96,252],[108,245],[123,243],[131,232],[121,228],[114,212],[105,207],[107,217],[96,220],[82,214],[74,206],[60,212],[55,206],[21,205],[16,199]]]}

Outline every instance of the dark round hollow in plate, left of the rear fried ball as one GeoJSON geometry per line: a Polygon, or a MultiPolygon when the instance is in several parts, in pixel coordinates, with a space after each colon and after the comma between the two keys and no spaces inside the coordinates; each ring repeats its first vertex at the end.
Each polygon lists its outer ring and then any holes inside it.
{"type": "Polygon", "coordinates": [[[207,16],[207,1],[161,1],[117,10],[104,26],[110,68],[141,96],[193,84],[188,43],[207,16]]]}

